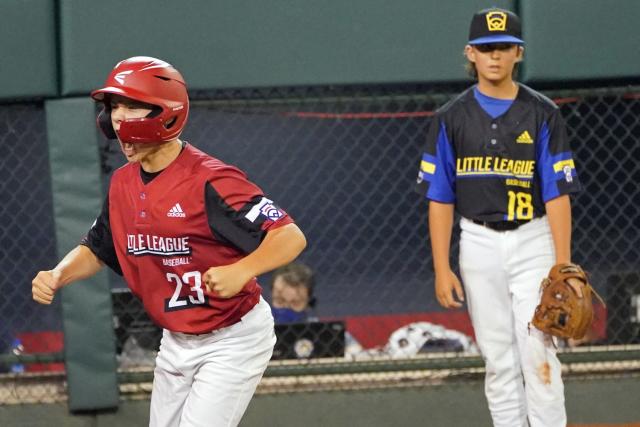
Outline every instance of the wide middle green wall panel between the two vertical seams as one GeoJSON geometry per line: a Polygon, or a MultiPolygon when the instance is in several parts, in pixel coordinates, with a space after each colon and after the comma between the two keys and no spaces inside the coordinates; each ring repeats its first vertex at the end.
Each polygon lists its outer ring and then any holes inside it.
{"type": "Polygon", "coordinates": [[[59,1],[63,95],[134,55],[173,63],[190,89],[461,80],[472,14],[514,3],[59,1]]]}

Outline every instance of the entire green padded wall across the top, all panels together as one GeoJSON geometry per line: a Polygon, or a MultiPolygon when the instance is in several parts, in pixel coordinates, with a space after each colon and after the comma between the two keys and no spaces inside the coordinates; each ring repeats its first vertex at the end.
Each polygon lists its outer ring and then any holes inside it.
{"type": "Polygon", "coordinates": [[[493,4],[522,15],[527,81],[640,76],[638,0],[2,0],[0,100],[86,94],[139,54],[192,89],[459,81],[493,4]]]}

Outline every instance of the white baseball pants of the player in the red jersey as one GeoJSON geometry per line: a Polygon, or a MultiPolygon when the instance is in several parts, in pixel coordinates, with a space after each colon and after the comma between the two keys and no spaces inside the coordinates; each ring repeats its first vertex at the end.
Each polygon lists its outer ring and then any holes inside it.
{"type": "Polygon", "coordinates": [[[151,394],[151,427],[237,426],[276,337],[269,304],[209,334],[164,330],[151,394]]]}

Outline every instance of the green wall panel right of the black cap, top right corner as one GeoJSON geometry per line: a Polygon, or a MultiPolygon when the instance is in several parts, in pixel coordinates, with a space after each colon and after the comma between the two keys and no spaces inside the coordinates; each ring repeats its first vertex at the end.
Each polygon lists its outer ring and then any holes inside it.
{"type": "Polygon", "coordinates": [[[524,77],[640,77],[639,0],[520,0],[524,77]]]}

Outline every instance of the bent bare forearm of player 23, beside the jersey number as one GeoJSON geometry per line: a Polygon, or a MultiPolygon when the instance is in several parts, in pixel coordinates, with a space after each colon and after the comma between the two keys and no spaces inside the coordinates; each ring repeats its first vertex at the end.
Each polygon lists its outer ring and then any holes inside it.
{"type": "Polygon", "coordinates": [[[258,249],[238,263],[254,276],[259,276],[290,263],[306,246],[307,240],[298,226],[287,224],[269,231],[258,249]]]}

